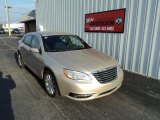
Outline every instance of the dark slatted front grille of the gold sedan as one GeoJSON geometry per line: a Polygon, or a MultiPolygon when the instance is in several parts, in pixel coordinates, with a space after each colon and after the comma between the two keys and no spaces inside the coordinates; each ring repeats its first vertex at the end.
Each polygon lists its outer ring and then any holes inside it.
{"type": "Polygon", "coordinates": [[[106,83],[117,78],[117,67],[96,71],[92,74],[100,83],[106,83]]]}

